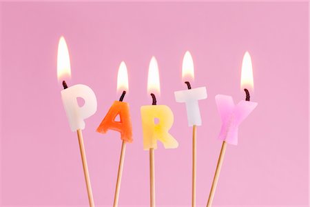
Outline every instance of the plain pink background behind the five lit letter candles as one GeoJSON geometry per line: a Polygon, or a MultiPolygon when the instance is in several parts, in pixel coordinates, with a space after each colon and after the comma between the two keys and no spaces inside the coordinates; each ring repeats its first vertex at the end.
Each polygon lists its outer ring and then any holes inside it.
{"type": "Polygon", "coordinates": [[[193,87],[200,101],[197,203],[205,205],[221,142],[216,94],[244,99],[242,55],[249,50],[258,108],[242,123],[239,145],[228,146],[214,205],[308,204],[307,2],[92,2],[1,3],[1,203],[87,205],[76,134],[70,131],[56,80],[56,50],[65,36],[72,81],[90,86],[99,104],[83,131],[94,201],[112,206],[121,140],[95,131],[116,95],[124,60],[130,78],[134,144],[127,145],[120,205],[149,204],[149,157],[143,151],[140,106],[147,67],[158,60],[161,97],[175,115],[176,150],[156,150],[158,206],[189,206],[192,128],[185,106],[181,63],[194,58],[193,87]]]}

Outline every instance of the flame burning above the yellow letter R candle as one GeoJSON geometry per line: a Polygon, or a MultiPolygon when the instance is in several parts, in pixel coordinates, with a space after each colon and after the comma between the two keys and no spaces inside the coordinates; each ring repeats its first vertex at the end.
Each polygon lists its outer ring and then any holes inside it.
{"type": "Polygon", "coordinates": [[[158,64],[153,56],[149,62],[149,75],[147,77],[147,92],[160,95],[161,85],[159,83],[158,64]]]}

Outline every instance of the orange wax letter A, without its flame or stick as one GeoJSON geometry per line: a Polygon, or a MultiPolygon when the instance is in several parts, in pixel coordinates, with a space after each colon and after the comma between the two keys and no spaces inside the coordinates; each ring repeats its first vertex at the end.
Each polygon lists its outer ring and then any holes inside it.
{"type": "Polygon", "coordinates": [[[105,134],[108,130],[121,133],[123,141],[132,142],[132,122],[130,119],[129,104],[122,101],[114,101],[105,118],[97,128],[97,132],[105,134]],[[119,115],[120,121],[115,121],[119,115]]]}

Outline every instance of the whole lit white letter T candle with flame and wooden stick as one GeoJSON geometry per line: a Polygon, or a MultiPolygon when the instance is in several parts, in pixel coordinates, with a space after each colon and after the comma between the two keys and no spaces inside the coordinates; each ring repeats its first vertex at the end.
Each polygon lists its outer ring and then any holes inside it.
{"type": "Polygon", "coordinates": [[[207,99],[205,87],[192,88],[189,79],[194,79],[194,61],[189,51],[185,52],[182,64],[182,78],[188,90],[174,92],[174,97],[179,103],[185,103],[187,110],[188,126],[193,127],[193,166],[192,166],[192,206],[196,206],[196,126],[201,125],[198,100],[207,99]]]}

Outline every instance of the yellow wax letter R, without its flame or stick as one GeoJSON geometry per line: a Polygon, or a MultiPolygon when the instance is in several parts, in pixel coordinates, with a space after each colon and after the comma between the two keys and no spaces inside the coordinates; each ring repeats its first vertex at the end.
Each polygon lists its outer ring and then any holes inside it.
{"type": "Polygon", "coordinates": [[[172,110],[165,105],[141,106],[143,128],[143,148],[157,148],[157,140],[165,148],[177,148],[178,141],[169,134],[169,129],[174,123],[172,110]],[[156,119],[158,123],[156,123],[156,119]]]}

